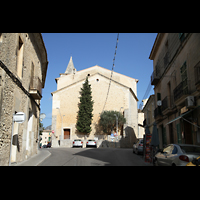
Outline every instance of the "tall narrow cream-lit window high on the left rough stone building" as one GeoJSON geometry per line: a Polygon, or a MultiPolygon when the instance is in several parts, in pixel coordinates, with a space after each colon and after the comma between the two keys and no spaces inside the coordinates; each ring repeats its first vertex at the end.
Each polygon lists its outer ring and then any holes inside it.
{"type": "Polygon", "coordinates": [[[18,50],[17,50],[17,75],[22,78],[22,64],[23,64],[23,41],[19,36],[18,50]]]}

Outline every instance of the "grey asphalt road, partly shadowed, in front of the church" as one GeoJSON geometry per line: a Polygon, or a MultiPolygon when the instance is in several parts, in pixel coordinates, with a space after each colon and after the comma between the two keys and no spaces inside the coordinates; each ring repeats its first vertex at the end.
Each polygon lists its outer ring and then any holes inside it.
{"type": "Polygon", "coordinates": [[[39,166],[152,166],[132,149],[122,148],[51,148],[39,166]]]}

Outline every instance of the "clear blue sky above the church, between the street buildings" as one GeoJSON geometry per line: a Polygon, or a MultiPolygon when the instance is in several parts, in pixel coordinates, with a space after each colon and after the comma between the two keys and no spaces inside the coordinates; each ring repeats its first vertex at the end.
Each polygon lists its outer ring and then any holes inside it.
{"type": "MultiPolygon", "coordinates": [[[[99,65],[112,70],[117,33],[42,33],[47,50],[48,69],[42,91],[41,113],[46,114],[43,126],[51,125],[52,96],[57,90],[55,78],[64,73],[70,56],[77,71],[99,65]]],[[[114,71],[138,79],[138,107],[153,72],[149,59],[157,33],[120,33],[114,71]]],[[[153,87],[148,97],[153,94],[153,87]]]]}

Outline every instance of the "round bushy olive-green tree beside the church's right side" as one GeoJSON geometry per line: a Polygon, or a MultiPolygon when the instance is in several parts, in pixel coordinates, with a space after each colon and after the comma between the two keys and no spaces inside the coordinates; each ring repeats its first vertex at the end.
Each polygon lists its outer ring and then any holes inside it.
{"type": "Polygon", "coordinates": [[[100,126],[104,133],[111,133],[113,129],[116,129],[116,115],[118,116],[118,129],[126,123],[126,118],[118,111],[104,111],[100,116],[100,126]]]}

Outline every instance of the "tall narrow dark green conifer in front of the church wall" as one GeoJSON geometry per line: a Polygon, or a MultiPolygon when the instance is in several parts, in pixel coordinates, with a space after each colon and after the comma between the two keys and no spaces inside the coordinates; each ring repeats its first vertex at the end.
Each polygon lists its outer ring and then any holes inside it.
{"type": "Polygon", "coordinates": [[[76,128],[79,132],[88,134],[92,130],[90,125],[92,124],[92,111],[94,104],[94,101],[92,100],[91,85],[88,82],[88,77],[86,77],[85,83],[83,84],[83,88],[81,88],[80,94],[81,97],[76,128]]]}

